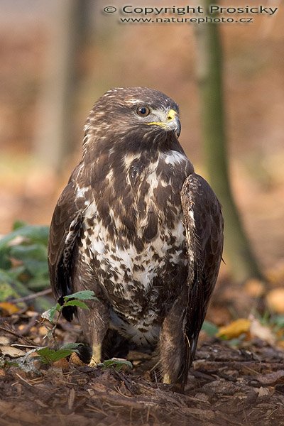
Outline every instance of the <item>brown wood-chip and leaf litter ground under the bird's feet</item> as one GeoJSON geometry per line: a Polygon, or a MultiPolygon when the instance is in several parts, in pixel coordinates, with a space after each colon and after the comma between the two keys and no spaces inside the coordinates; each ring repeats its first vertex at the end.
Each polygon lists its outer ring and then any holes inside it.
{"type": "MultiPolygon", "coordinates": [[[[180,394],[150,380],[153,361],[145,354],[130,354],[132,371],[80,366],[72,357],[18,366],[17,356],[43,344],[38,318],[20,312],[1,319],[1,426],[284,425],[284,354],[259,339],[242,349],[207,339],[180,394]]],[[[57,333],[75,342],[80,329],[62,320],[57,333]]]]}

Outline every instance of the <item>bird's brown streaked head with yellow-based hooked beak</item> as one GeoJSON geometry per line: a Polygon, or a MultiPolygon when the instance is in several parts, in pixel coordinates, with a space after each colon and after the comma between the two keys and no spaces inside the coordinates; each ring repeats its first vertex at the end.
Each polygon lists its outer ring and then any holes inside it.
{"type": "MultiPolygon", "coordinates": [[[[180,136],[178,105],[148,87],[110,89],[94,104],[85,126],[86,141],[131,138],[158,141],[180,136]]],[[[147,144],[146,144],[147,145],[147,144]]]]}

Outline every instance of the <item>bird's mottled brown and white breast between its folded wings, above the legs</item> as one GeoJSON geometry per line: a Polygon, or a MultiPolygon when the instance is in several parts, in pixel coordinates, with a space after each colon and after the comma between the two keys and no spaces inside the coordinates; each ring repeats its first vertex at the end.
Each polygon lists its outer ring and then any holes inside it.
{"type": "Polygon", "coordinates": [[[126,158],[121,190],[114,194],[116,183],[107,182],[101,197],[85,211],[80,251],[84,261],[91,259],[114,312],[127,317],[128,323],[138,324],[145,317],[154,323],[161,302],[178,292],[178,280],[185,274],[180,189],[186,163],[181,164],[181,157],[176,153],[147,168],[137,158],[126,158]]]}

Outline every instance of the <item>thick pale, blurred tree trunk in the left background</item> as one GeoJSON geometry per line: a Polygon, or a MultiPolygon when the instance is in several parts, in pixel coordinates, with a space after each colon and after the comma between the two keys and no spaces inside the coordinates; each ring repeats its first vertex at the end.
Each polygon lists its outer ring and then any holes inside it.
{"type": "Polygon", "coordinates": [[[75,148],[79,53],[86,43],[91,6],[92,0],[53,1],[34,152],[38,160],[57,172],[75,148]]]}

